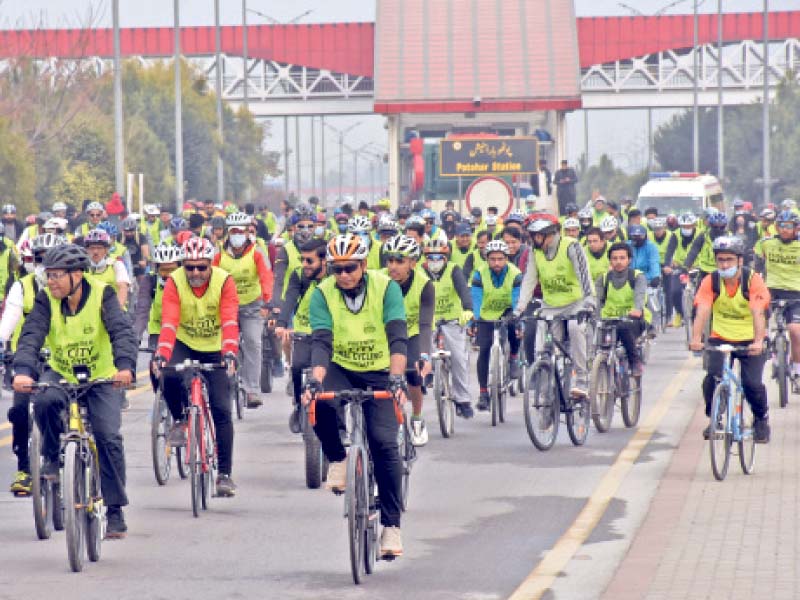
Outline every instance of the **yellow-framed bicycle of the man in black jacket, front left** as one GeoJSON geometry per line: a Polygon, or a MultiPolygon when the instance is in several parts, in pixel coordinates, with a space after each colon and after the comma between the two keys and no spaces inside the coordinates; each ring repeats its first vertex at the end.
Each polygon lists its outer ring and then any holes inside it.
{"type": "MultiPolygon", "coordinates": [[[[91,426],[87,421],[87,406],[84,399],[93,387],[111,385],[113,381],[110,379],[89,381],[88,368],[75,367],[74,373],[78,383],[69,383],[66,380],[57,383],[35,383],[31,386],[31,393],[57,389],[67,396],[64,417],[65,433],[61,435],[59,448],[61,466],[59,487],[61,506],[63,507],[63,525],[66,531],[67,558],[70,568],[77,573],[83,570],[84,554],[91,562],[100,560],[100,547],[106,527],[105,504],[100,486],[100,459],[91,426]]],[[[35,429],[38,433],[38,427],[35,429]]],[[[38,448],[38,435],[36,437],[38,448]]],[[[38,455],[39,451],[36,453],[38,455]]],[[[37,480],[39,482],[42,480],[40,461],[40,456],[36,456],[33,461],[34,464],[37,464],[37,480]]],[[[51,493],[55,493],[53,488],[51,488],[51,493]]],[[[41,490],[34,494],[34,520],[37,518],[37,500],[42,498],[41,490]]],[[[46,510],[46,505],[44,507],[46,510]]],[[[54,517],[54,528],[57,528],[55,527],[55,503],[51,505],[51,510],[54,517]]],[[[46,512],[42,511],[41,515],[46,516],[46,512]]]]}

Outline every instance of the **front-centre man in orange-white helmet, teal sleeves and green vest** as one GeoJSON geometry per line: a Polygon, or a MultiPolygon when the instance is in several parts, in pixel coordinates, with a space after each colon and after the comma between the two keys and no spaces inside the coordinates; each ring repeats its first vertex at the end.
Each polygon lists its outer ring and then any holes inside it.
{"type": "MultiPolygon", "coordinates": [[[[332,273],[311,296],[311,377],[304,401],[323,386],[329,390],[388,389],[406,401],[408,335],[403,294],[387,275],[367,271],[369,249],[357,235],[338,235],[328,242],[332,273]],[[372,348],[371,352],[364,352],[372,348]]],[[[333,406],[317,404],[314,431],[329,461],[326,486],[344,491],[347,453],[339,437],[339,418],[333,406]]],[[[364,403],[364,420],[375,480],[381,498],[380,552],[402,556],[400,532],[401,464],[397,421],[391,402],[364,403]]]]}

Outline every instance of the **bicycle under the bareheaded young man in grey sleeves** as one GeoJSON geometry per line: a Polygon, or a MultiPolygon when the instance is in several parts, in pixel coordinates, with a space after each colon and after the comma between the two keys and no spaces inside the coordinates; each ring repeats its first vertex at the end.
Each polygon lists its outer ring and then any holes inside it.
{"type": "Polygon", "coordinates": [[[631,318],[609,318],[602,319],[598,324],[596,342],[598,354],[595,355],[592,364],[589,401],[592,407],[592,421],[600,433],[605,433],[611,428],[617,400],[620,402],[625,427],[634,427],[639,422],[642,378],[631,375],[628,354],[617,338],[618,325],[639,322],[638,319],[631,318]]]}

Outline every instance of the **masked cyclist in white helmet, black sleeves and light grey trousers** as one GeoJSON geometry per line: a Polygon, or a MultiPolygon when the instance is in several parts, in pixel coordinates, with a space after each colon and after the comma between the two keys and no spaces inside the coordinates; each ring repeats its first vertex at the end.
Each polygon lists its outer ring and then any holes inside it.
{"type": "MultiPolygon", "coordinates": [[[[464,225],[466,225],[464,223],[464,225]]],[[[456,413],[465,419],[474,416],[470,402],[469,389],[467,388],[467,340],[464,325],[472,320],[472,296],[467,286],[464,272],[449,259],[450,245],[442,243],[440,238],[429,240],[424,248],[425,273],[433,282],[436,308],[434,309],[435,321],[448,322],[442,326],[445,345],[450,351],[450,365],[453,374],[453,397],[456,403],[456,413]]]]}

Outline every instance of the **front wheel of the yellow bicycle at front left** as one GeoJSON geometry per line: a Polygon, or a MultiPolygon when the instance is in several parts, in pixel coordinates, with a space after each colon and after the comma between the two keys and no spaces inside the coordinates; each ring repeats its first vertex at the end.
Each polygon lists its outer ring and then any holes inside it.
{"type": "Polygon", "coordinates": [[[86,485],[83,460],[78,442],[69,441],[64,448],[64,529],[67,538],[69,566],[75,571],[83,569],[84,540],[86,539],[86,485]]]}

